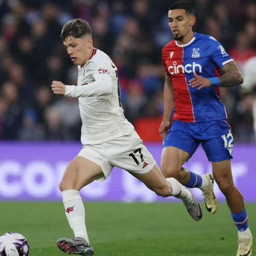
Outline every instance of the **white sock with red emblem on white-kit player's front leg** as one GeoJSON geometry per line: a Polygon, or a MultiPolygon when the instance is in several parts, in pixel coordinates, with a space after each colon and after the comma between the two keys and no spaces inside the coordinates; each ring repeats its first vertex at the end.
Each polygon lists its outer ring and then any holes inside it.
{"type": "Polygon", "coordinates": [[[85,226],[84,204],[79,191],[68,189],[61,192],[61,194],[66,217],[75,237],[82,237],[89,242],[85,226]]]}

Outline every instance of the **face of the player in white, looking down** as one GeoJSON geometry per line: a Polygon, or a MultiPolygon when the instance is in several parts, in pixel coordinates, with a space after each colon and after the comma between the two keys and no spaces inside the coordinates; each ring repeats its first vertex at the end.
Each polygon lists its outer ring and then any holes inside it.
{"type": "Polygon", "coordinates": [[[67,49],[67,54],[70,56],[73,63],[77,66],[82,66],[90,58],[93,49],[93,41],[89,36],[81,38],[68,37],[64,41],[67,49]]]}

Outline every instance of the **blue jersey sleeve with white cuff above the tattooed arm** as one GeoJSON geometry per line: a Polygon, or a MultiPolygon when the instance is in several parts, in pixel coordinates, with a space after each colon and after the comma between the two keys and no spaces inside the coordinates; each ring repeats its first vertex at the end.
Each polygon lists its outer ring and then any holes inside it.
{"type": "Polygon", "coordinates": [[[225,51],[224,47],[215,38],[209,37],[209,49],[212,60],[219,68],[223,68],[225,64],[233,61],[233,58],[225,51]]]}

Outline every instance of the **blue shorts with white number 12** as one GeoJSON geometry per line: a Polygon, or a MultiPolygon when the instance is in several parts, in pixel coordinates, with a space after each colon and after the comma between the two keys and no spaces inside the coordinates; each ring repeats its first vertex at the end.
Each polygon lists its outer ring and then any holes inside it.
{"type": "Polygon", "coordinates": [[[179,148],[192,157],[200,143],[209,161],[233,159],[233,136],[230,125],[225,120],[196,123],[175,121],[163,142],[163,147],[179,148]]]}

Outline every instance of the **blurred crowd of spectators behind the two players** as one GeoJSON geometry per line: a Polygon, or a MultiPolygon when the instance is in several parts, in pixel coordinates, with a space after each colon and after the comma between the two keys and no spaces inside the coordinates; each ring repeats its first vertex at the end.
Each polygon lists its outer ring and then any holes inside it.
{"type": "MultiPolygon", "coordinates": [[[[125,116],[146,141],[163,114],[162,48],[172,40],[172,0],[0,0],[0,140],[80,140],[78,100],[52,94],[52,80],[76,84],[77,67],[59,35],[81,17],[94,47],[119,70],[125,116]]],[[[242,72],[256,55],[256,2],[195,0],[195,31],[220,41],[242,72]]],[[[255,68],[256,71],[256,68],[255,68]]],[[[221,88],[233,135],[254,142],[253,90],[221,88]]],[[[153,135],[154,134],[154,135],[153,135]]]]}

